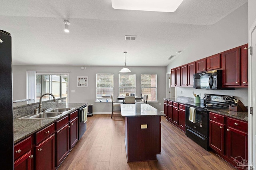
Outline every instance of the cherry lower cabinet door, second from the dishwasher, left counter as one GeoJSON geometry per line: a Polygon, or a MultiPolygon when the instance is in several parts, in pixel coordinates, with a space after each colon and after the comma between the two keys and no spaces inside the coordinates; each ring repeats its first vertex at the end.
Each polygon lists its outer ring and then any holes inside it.
{"type": "Polygon", "coordinates": [[[69,151],[69,125],[56,132],[56,167],[60,165],[69,151]]]}

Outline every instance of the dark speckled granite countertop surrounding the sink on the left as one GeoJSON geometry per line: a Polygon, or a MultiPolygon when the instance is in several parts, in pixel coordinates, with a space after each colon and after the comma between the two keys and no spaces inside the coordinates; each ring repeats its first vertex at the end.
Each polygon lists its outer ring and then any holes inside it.
{"type": "MultiPolygon", "coordinates": [[[[79,109],[80,107],[86,104],[87,103],[70,103],[70,104],[66,104],[66,107],[75,107],[76,109],[79,109]]],[[[71,111],[67,112],[63,116],[68,115],[70,112],[76,109],[72,109],[71,111]]],[[[57,119],[61,119],[62,117],[55,118],[55,119],[14,119],[13,120],[14,144],[32,135],[36,131],[54,123],[54,121],[56,121],[57,119]]]]}

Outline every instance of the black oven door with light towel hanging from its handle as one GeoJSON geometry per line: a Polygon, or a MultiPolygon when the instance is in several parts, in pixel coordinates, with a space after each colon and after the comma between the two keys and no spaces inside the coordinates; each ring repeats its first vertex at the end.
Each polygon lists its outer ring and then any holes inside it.
{"type": "Polygon", "coordinates": [[[208,113],[207,110],[195,107],[196,123],[189,120],[189,106],[186,106],[186,126],[194,131],[208,137],[208,113]]]}

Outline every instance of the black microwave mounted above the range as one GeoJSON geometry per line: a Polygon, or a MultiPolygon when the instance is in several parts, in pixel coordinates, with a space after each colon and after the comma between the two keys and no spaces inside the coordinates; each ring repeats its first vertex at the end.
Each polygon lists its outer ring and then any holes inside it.
{"type": "Polygon", "coordinates": [[[224,89],[222,88],[222,70],[212,70],[194,74],[193,88],[224,89]]]}

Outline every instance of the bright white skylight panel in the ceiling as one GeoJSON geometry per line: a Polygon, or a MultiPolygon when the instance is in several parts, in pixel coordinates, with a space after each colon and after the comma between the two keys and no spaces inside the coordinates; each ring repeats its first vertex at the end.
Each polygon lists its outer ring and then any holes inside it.
{"type": "Polygon", "coordinates": [[[139,10],[174,12],[183,0],[111,0],[112,8],[118,10],[139,10]]]}

